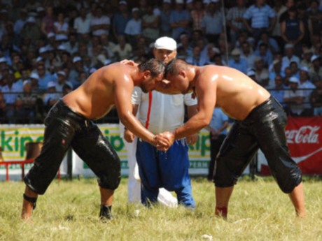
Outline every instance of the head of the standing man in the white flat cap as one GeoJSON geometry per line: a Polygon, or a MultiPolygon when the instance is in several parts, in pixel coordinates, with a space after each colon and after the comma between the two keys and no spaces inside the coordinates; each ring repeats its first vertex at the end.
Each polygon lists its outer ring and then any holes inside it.
{"type": "Polygon", "coordinates": [[[176,57],[176,41],[169,37],[158,38],[154,43],[153,55],[155,59],[168,64],[176,57]]]}

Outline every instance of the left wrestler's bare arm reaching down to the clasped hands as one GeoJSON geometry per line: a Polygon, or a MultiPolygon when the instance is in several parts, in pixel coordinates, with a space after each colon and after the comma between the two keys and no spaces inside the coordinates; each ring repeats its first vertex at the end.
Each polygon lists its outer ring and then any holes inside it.
{"type": "Polygon", "coordinates": [[[132,80],[125,80],[123,76],[120,76],[119,78],[116,78],[114,85],[114,101],[120,121],[127,129],[134,133],[135,136],[155,145],[155,136],[153,133],[145,129],[139,120],[132,114],[131,95],[134,88],[132,80]]]}

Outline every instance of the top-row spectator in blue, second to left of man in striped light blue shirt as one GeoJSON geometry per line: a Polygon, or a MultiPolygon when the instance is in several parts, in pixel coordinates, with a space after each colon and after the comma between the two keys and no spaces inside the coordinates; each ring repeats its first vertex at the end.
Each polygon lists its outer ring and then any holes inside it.
{"type": "Polygon", "coordinates": [[[219,8],[219,0],[211,0],[207,13],[202,18],[202,30],[210,43],[218,43],[218,38],[223,33],[223,14],[219,8]]]}

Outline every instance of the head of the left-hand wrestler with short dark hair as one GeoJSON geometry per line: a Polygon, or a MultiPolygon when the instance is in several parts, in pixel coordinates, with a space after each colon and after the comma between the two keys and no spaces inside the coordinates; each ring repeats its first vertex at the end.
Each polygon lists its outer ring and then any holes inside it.
{"type": "Polygon", "coordinates": [[[143,92],[151,92],[159,82],[162,82],[165,64],[158,59],[149,59],[139,64],[139,71],[143,73],[143,80],[139,87],[143,92]]]}

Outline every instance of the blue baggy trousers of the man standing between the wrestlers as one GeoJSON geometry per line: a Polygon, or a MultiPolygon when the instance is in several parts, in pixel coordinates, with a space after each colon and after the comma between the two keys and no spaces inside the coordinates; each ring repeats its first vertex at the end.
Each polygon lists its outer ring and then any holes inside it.
{"type": "Polygon", "coordinates": [[[153,145],[138,140],[137,163],[142,185],[141,203],[156,203],[159,188],[164,187],[176,193],[179,204],[195,207],[186,140],[176,140],[167,152],[158,151],[153,145]]]}

